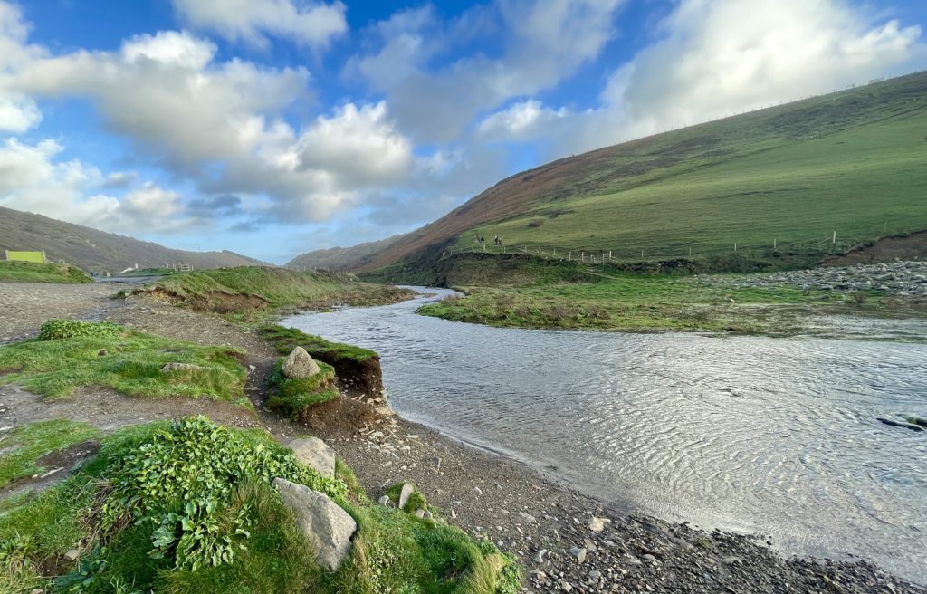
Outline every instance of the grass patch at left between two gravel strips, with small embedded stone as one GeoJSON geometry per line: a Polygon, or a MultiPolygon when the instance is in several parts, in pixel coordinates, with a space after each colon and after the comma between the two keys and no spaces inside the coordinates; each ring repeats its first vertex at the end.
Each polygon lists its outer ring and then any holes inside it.
{"type": "Polygon", "coordinates": [[[215,398],[248,406],[244,351],[204,347],[108,322],[45,322],[39,338],[0,348],[0,383],[65,397],[82,385],[128,396],[215,398]],[[179,369],[163,372],[168,363],[179,369]]]}

